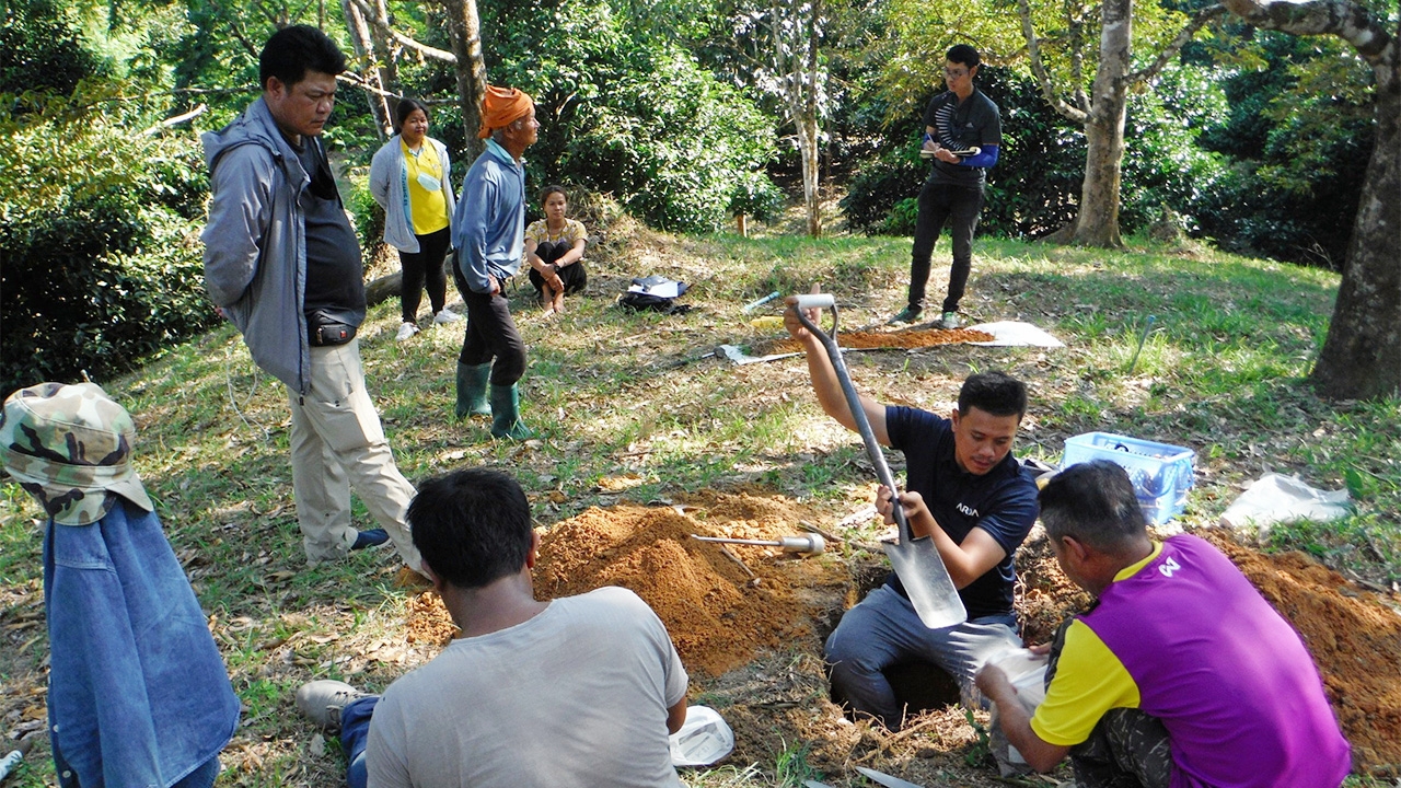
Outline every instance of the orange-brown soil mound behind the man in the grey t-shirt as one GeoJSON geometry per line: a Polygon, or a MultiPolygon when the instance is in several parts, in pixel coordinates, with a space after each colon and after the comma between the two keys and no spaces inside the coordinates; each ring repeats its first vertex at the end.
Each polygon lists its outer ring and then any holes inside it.
{"type": "MultiPolygon", "coordinates": [[[[677,506],[593,508],[552,526],[535,564],[539,599],[622,586],[657,613],[692,673],[719,676],[764,649],[818,649],[814,620],[841,607],[848,575],[834,557],[800,558],[692,534],[772,540],[801,533],[796,502],[706,491],[677,506]],[[807,641],[811,641],[810,644],[807,641]]],[[[447,642],[437,595],[409,607],[409,635],[447,642]]]]}

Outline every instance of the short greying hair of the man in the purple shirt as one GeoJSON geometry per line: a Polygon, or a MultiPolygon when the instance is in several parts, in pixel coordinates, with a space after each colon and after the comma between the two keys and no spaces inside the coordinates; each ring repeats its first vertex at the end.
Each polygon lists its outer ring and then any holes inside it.
{"type": "Polygon", "coordinates": [[[1063,536],[1115,552],[1147,534],[1129,474],[1110,460],[1077,463],[1047,482],[1040,495],[1047,536],[1063,536]]]}

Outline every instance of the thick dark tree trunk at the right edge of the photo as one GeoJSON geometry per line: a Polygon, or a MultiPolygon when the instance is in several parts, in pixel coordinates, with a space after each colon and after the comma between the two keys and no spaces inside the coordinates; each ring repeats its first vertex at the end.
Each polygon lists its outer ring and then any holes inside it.
{"type": "Polygon", "coordinates": [[[1390,70],[1388,77],[1377,73],[1376,144],[1328,338],[1310,377],[1320,394],[1337,400],[1401,394],[1401,73],[1395,57],[1390,70]]]}

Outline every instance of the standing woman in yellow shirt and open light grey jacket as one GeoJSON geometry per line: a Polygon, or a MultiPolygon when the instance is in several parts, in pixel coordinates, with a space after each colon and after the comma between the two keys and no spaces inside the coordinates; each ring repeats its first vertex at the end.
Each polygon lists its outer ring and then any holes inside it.
{"type": "Polygon", "coordinates": [[[453,238],[455,206],[447,146],[427,136],[429,109],[419,101],[399,100],[394,121],[399,133],[389,137],[370,163],[370,193],[384,209],[384,243],[399,250],[403,324],[395,338],[402,342],[419,332],[425,286],[434,324],[462,317],[446,304],[443,261],[453,238]]]}

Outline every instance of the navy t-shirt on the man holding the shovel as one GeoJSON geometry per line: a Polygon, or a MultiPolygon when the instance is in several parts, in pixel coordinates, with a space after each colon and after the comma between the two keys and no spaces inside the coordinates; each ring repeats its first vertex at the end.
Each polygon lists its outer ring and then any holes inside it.
{"type": "MultiPolygon", "coordinates": [[[[1023,475],[1012,451],[981,477],[960,468],[954,460],[953,422],[929,411],[887,405],[885,432],[891,447],[905,453],[905,488],[925,498],[948,538],[962,544],[979,527],[1006,551],[996,566],[958,592],[968,620],[1012,613],[1012,587],[1017,579],[1013,554],[1040,512],[1035,482],[1023,475]]],[[[885,583],[909,596],[894,572],[885,583]]]]}

